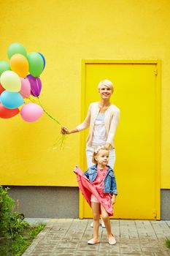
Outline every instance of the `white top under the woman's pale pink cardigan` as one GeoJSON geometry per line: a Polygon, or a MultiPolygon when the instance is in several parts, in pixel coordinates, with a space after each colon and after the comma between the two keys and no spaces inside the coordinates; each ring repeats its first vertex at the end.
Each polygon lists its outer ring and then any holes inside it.
{"type": "Polygon", "coordinates": [[[98,113],[94,122],[92,147],[104,145],[107,142],[104,118],[104,113],[98,113]]]}

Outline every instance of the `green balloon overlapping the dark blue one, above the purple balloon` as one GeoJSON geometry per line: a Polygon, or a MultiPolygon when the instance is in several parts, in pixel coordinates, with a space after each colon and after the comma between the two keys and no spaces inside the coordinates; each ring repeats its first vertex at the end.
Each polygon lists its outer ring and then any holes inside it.
{"type": "Polygon", "coordinates": [[[39,53],[28,53],[27,54],[28,64],[29,64],[29,72],[34,78],[37,78],[41,75],[44,69],[44,61],[39,53]]]}

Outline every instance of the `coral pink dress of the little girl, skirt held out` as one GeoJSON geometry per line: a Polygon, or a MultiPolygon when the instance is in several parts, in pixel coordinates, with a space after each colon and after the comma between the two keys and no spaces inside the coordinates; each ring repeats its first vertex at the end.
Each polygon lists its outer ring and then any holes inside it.
{"type": "Polygon", "coordinates": [[[80,167],[75,167],[74,173],[77,174],[79,188],[89,206],[91,207],[90,197],[93,194],[98,199],[99,203],[104,206],[109,216],[112,216],[113,208],[111,203],[111,195],[109,193],[104,193],[104,178],[107,174],[107,168],[104,170],[98,169],[98,175],[93,182],[88,180],[82,170],[80,170],[80,167]]]}

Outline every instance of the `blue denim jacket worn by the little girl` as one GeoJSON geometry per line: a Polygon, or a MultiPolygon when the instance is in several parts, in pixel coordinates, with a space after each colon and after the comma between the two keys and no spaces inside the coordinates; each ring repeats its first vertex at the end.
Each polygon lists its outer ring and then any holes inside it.
{"type": "MultiPolygon", "coordinates": [[[[107,167],[107,175],[104,178],[104,193],[117,195],[117,184],[115,174],[109,165],[107,165],[107,167]]],[[[93,165],[89,167],[88,170],[86,170],[85,176],[89,179],[90,182],[93,182],[97,176],[97,173],[97,165],[93,165]]]]}

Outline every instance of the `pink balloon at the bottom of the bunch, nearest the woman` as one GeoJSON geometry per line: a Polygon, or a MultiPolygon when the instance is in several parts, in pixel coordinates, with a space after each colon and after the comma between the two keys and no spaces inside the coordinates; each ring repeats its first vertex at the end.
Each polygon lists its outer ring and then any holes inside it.
{"type": "Polygon", "coordinates": [[[28,103],[23,105],[23,108],[20,110],[20,116],[24,121],[33,122],[37,121],[41,116],[44,110],[42,107],[35,103],[28,103]]]}

